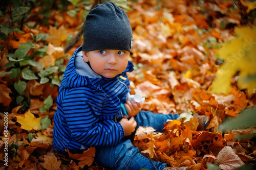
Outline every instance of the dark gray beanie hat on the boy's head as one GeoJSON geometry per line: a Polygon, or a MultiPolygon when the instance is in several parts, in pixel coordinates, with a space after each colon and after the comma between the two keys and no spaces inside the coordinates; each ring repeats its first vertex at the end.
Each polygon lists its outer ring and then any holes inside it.
{"type": "Polygon", "coordinates": [[[83,29],[82,51],[131,52],[132,45],[132,28],[123,9],[112,2],[105,2],[89,12],[83,29]]]}

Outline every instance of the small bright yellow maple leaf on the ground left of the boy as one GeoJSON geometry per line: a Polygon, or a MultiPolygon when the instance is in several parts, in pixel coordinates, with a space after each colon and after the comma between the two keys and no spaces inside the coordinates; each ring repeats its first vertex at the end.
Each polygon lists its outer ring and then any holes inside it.
{"type": "Polygon", "coordinates": [[[31,130],[40,130],[41,125],[40,125],[40,117],[36,118],[34,114],[28,110],[25,114],[25,117],[22,116],[16,116],[17,117],[17,122],[22,125],[20,128],[25,129],[27,131],[31,130]]]}

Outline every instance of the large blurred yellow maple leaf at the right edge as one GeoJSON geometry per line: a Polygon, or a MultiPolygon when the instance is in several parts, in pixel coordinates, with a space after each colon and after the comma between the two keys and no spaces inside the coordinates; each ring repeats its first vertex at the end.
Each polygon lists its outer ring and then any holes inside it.
{"type": "Polygon", "coordinates": [[[251,95],[256,90],[256,27],[235,28],[234,37],[225,43],[216,58],[223,59],[224,64],[217,71],[211,92],[228,93],[231,90],[231,78],[239,71],[238,87],[247,89],[251,95]]]}

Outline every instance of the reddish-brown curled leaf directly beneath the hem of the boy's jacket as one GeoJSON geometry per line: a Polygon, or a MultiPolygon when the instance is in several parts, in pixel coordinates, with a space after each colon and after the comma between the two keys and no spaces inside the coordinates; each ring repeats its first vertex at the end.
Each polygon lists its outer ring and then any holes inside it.
{"type": "Polygon", "coordinates": [[[82,154],[72,154],[71,152],[69,152],[69,150],[66,150],[69,154],[69,157],[71,159],[76,159],[79,161],[78,166],[83,168],[84,165],[88,165],[91,166],[93,161],[94,161],[94,157],[95,157],[95,148],[91,147],[86,151],[83,151],[82,154]]]}

